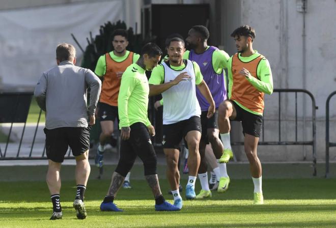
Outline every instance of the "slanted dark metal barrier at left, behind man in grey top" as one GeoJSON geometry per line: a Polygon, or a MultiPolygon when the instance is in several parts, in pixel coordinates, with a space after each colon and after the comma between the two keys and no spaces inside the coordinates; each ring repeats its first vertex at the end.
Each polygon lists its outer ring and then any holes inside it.
{"type": "MultiPolygon", "coordinates": [[[[47,159],[45,155],[45,143],[43,146],[43,150],[41,150],[41,155],[33,154],[33,149],[35,146],[36,135],[38,132],[38,127],[41,120],[42,110],[40,109],[38,120],[36,122],[36,127],[34,130],[34,136],[32,140],[32,144],[30,147],[29,155],[23,156],[21,153],[22,140],[24,137],[24,133],[27,125],[27,117],[29,115],[29,110],[31,107],[31,102],[33,99],[33,92],[0,92],[0,124],[10,123],[10,129],[7,136],[5,151],[2,151],[0,145],[0,160],[37,160],[37,159],[47,159]],[[13,131],[14,123],[23,123],[23,129],[21,133],[21,137],[19,139],[19,145],[17,152],[11,153],[8,156],[8,146],[11,143],[11,134],[13,131]]],[[[67,156],[65,159],[72,158],[71,150],[69,148],[67,152],[67,156]]]]}

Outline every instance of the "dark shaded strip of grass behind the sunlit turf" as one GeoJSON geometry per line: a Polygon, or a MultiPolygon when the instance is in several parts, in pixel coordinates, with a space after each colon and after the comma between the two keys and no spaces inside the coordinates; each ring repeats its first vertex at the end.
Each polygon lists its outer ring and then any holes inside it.
{"type": "MultiPolygon", "coordinates": [[[[187,180],[182,180],[182,186],[187,180]]],[[[102,201],[109,187],[109,180],[92,180],[86,190],[87,201],[102,201]]],[[[131,180],[132,189],[120,189],[116,197],[119,200],[153,200],[146,181],[131,180]]],[[[167,194],[170,188],[166,180],[160,181],[161,191],[167,200],[173,197],[167,194]]],[[[201,189],[197,183],[195,189],[201,189]]],[[[336,181],[333,179],[269,179],[263,181],[265,202],[269,200],[333,200],[336,181]]],[[[76,193],[74,181],[63,181],[61,202],[73,201],[76,193]]],[[[185,192],[181,193],[184,198],[185,192]]],[[[49,191],[45,182],[2,182],[0,202],[49,202],[49,191]]],[[[251,180],[232,180],[225,193],[212,192],[211,201],[253,200],[253,182],[251,180]]],[[[153,200],[154,201],[154,200],[153,200]]]]}

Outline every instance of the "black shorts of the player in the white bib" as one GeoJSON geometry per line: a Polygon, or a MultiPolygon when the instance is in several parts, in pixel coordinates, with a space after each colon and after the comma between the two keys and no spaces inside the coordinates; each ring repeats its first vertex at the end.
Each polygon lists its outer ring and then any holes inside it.
{"type": "Polygon", "coordinates": [[[201,118],[190,117],[174,124],[164,124],[162,128],[163,138],[162,146],[167,149],[179,149],[180,141],[183,139],[185,145],[185,136],[189,131],[199,131],[202,133],[201,118]]]}

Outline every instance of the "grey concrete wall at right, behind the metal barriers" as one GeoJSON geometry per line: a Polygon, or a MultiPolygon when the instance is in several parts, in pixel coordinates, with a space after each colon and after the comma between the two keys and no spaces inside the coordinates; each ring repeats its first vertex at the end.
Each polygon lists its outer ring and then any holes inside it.
{"type": "MultiPolygon", "coordinates": [[[[336,90],[336,2],[334,0],[307,1],[305,14],[306,27],[306,55],[303,56],[303,13],[297,12],[297,1],[294,0],[227,0],[221,3],[222,37],[225,49],[233,54],[235,46],[231,32],[240,24],[249,24],[256,30],[254,48],[264,54],[269,60],[273,73],[274,88],[298,88],[312,92],[319,106],[317,113],[317,157],[324,159],[325,152],[325,102],[327,96],[336,90]],[[303,61],[306,61],[305,78],[303,61]]],[[[265,96],[265,119],[277,118],[277,94],[265,96]]],[[[294,97],[283,97],[282,118],[292,120],[284,123],[282,138],[292,140],[294,128],[294,97]]],[[[302,117],[306,120],[311,117],[311,102],[306,99],[303,108],[303,98],[298,96],[299,125],[302,128],[302,117]]],[[[333,131],[336,126],[336,98],[331,100],[331,139],[336,141],[333,131]]],[[[277,124],[275,121],[266,121],[271,130],[266,136],[277,137],[277,124]]],[[[265,125],[266,126],[266,125],[265,125]]],[[[306,122],[306,130],[299,131],[299,138],[311,139],[311,122],[306,122]],[[303,136],[302,136],[303,135],[303,136]]],[[[242,148],[238,148],[242,152],[242,148]]],[[[260,147],[266,160],[302,160],[306,154],[311,158],[311,147],[260,147]],[[281,148],[281,149],[280,149],[281,148]]],[[[331,149],[332,160],[336,160],[336,151],[331,149]]],[[[244,159],[244,156],[242,156],[244,159]]]]}

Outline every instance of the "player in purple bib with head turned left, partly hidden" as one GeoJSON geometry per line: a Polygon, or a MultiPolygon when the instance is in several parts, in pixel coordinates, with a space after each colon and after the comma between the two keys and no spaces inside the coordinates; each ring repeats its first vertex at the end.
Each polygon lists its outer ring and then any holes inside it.
{"type": "MultiPolygon", "coordinates": [[[[208,46],[208,39],[209,31],[205,26],[195,25],[191,27],[186,39],[187,45],[191,50],[186,51],[184,54],[185,59],[194,61],[200,66],[204,81],[209,87],[216,107],[215,114],[208,119],[207,112],[209,103],[202,93],[198,89],[196,90],[197,99],[199,100],[202,110],[202,137],[200,142],[201,163],[198,172],[202,190],[196,196],[198,199],[211,197],[211,191],[208,184],[208,165],[205,159],[205,148],[206,145],[210,143],[216,159],[219,159],[223,153],[223,145],[219,139],[217,119],[218,107],[227,97],[224,69],[228,68],[229,55],[225,51],[219,50],[214,46],[208,46]]],[[[226,164],[219,164],[219,170],[221,171],[221,174],[219,174],[220,176],[217,176],[220,178],[217,191],[225,192],[228,190],[230,184],[226,164]]]]}

